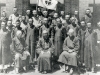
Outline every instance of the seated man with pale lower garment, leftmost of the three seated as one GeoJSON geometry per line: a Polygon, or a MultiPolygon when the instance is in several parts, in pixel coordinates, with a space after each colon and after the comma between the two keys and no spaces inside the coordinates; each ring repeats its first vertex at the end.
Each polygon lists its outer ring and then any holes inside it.
{"type": "Polygon", "coordinates": [[[12,50],[15,56],[15,72],[19,73],[19,69],[24,69],[28,67],[28,57],[30,53],[27,51],[25,45],[25,40],[22,38],[22,32],[18,30],[16,32],[16,37],[12,41],[12,50]]]}

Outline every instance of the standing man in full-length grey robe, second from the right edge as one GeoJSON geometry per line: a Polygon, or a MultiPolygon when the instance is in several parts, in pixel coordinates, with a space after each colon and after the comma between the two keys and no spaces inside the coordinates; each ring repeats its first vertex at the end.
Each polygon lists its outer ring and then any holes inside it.
{"type": "Polygon", "coordinates": [[[85,35],[84,46],[84,64],[87,71],[94,72],[95,68],[95,53],[96,53],[96,35],[92,29],[90,22],[87,23],[87,31],[85,35]]]}

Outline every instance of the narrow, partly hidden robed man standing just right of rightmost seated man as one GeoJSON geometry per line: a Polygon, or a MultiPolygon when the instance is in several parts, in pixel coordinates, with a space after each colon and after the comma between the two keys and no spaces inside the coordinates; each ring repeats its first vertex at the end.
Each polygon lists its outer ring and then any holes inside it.
{"type": "Polygon", "coordinates": [[[80,50],[79,50],[80,61],[79,62],[81,63],[81,66],[84,65],[85,34],[86,34],[86,23],[85,21],[81,21],[80,29],[78,31],[78,37],[80,39],[80,50]]]}

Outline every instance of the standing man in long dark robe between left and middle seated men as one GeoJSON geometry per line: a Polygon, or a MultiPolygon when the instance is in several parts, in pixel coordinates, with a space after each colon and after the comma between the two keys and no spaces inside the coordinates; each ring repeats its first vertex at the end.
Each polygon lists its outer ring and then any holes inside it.
{"type": "Polygon", "coordinates": [[[36,42],[37,42],[37,28],[33,25],[33,20],[29,19],[27,27],[26,44],[30,52],[30,64],[36,61],[36,42]]]}

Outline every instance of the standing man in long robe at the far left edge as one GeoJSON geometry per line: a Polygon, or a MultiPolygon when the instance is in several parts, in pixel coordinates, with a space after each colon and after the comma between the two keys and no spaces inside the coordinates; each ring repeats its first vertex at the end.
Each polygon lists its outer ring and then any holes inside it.
{"type": "Polygon", "coordinates": [[[9,31],[6,29],[6,23],[1,23],[0,29],[0,72],[7,72],[8,65],[11,59],[10,53],[10,38],[9,38],[9,31]]]}

